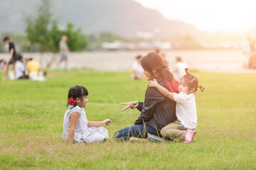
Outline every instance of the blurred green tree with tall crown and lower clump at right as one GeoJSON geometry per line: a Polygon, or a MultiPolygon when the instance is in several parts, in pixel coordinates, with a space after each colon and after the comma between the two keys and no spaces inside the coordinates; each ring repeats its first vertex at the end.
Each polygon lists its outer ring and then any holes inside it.
{"type": "Polygon", "coordinates": [[[53,52],[53,56],[48,60],[47,67],[50,67],[55,60],[56,52],[59,51],[59,42],[62,35],[68,36],[68,47],[71,51],[83,50],[87,45],[87,39],[82,34],[82,29],[74,29],[73,23],[68,23],[66,30],[60,30],[56,20],[52,21],[50,13],[50,0],[41,0],[36,18],[26,18],[26,35],[31,45],[38,46],[41,52],[41,64],[43,62],[43,52],[53,52]]]}

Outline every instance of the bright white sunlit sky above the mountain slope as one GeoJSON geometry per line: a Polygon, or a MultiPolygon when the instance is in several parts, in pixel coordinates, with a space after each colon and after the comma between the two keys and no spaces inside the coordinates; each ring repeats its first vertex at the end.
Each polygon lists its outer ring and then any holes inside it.
{"type": "Polygon", "coordinates": [[[166,18],[190,23],[201,30],[240,32],[256,28],[255,0],[134,0],[160,11],[166,18]]]}

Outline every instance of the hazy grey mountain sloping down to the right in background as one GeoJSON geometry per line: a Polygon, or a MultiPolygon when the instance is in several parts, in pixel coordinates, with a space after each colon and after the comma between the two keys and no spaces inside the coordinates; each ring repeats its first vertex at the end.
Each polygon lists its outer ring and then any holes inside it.
{"type": "MultiPolygon", "coordinates": [[[[71,21],[84,33],[111,31],[124,37],[138,33],[154,33],[155,38],[170,39],[192,35],[203,39],[209,33],[181,21],[164,18],[159,11],[144,8],[132,0],[55,0],[52,1],[53,18],[66,26],[71,21]]],[[[24,16],[35,16],[40,0],[1,1],[0,32],[24,33],[24,16]]]]}

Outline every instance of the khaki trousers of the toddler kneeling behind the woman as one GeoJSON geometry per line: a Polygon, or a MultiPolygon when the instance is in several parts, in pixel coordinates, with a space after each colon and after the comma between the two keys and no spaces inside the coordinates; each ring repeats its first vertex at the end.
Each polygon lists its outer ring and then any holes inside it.
{"type": "Polygon", "coordinates": [[[170,123],[169,125],[166,125],[164,128],[161,129],[161,135],[164,137],[184,140],[184,135],[186,133],[186,130],[181,130],[180,125],[178,125],[178,122],[170,123]]]}

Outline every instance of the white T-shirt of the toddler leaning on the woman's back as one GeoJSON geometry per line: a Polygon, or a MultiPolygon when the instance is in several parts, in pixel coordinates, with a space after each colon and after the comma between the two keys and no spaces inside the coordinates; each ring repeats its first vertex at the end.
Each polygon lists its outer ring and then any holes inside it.
{"type": "Polygon", "coordinates": [[[182,125],[189,129],[195,129],[197,123],[196,97],[194,94],[174,93],[176,101],[176,116],[182,125]]]}

